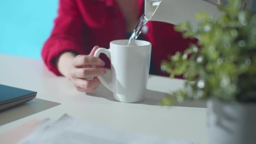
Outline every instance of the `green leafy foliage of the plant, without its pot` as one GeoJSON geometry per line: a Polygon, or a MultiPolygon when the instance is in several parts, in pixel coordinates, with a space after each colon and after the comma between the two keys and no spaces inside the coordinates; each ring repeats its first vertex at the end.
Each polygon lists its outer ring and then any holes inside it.
{"type": "Polygon", "coordinates": [[[196,28],[189,21],[175,26],[185,38],[198,42],[161,63],[171,77],[186,79],[185,88],[164,98],[163,105],[208,98],[256,102],[256,14],[240,10],[240,3],[228,0],[214,20],[205,12],[196,14],[196,28]]]}

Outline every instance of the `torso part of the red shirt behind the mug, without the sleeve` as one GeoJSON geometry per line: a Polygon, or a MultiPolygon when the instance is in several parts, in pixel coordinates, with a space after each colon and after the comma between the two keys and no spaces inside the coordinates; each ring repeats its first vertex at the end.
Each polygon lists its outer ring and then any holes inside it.
{"type": "MultiPolygon", "coordinates": [[[[84,22],[85,54],[96,45],[108,49],[111,41],[127,39],[125,17],[115,0],[77,0],[77,4],[84,22]]],[[[139,0],[138,9],[139,20],[144,14],[144,0],[139,0]]],[[[142,29],[141,37],[152,44],[151,60],[161,75],[164,74],[160,69],[161,61],[188,46],[188,41],[182,39],[169,23],[149,21],[142,29]],[[180,41],[178,46],[177,41],[180,41]]],[[[108,61],[105,56],[102,59],[108,61]]]]}

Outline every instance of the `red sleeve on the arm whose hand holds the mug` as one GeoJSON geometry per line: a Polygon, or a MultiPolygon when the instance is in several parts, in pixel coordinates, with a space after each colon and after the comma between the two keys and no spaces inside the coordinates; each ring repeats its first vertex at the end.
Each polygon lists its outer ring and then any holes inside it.
{"type": "Polygon", "coordinates": [[[75,0],[59,0],[58,16],[53,31],[42,49],[45,65],[56,75],[61,75],[55,59],[65,51],[82,54],[82,17],[75,0]]]}

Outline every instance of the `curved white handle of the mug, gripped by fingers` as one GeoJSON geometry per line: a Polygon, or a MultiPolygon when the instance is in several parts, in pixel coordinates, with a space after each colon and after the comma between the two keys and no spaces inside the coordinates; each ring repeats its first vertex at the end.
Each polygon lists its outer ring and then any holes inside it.
{"type": "MultiPolygon", "coordinates": [[[[106,56],[108,56],[108,59],[111,61],[110,49],[98,48],[95,51],[94,56],[99,57],[99,55],[101,53],[104,53],[106,56]]],[[[103,85],[105,85],[110,91],[113,92],[112,80],[111,80],[110,83],[108,83],[108,82],[105,81],[105,79],[102,76],[98,76],[98,79],[99,79],[100,82],[102,82],[103,85]]]]}

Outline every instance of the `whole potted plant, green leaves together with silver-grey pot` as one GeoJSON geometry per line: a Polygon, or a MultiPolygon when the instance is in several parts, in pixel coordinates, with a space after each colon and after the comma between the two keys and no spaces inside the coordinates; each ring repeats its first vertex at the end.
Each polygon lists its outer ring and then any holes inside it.
{"type": "Polygon", "coordinates": [[[171,77],[183,75],[186,81],[163,105],[207,100],[209,144],[256,144],[256,14],[240,10],[240,3],[228,0],[214,20],[196,14],[196,28],[189,22],[175,26],[198,42],[161,64],[171,77]]]}

